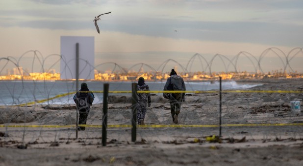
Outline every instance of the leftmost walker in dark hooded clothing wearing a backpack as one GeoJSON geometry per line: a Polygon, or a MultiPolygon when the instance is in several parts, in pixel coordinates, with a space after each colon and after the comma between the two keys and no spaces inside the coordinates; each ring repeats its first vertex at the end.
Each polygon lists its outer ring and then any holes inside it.
{"type": "MultiPolygon", "coordinates": [[[[86,125],[87,116],[90,110],[90,106],[94,101],[93,92],[89,92],[86,83],[81,83],[81,89],[74,96],[77,110],[79,111],[79,125],[86,125]]],[[[85,130],[85,127],[79,126],[78,130],[85,130]]]]}

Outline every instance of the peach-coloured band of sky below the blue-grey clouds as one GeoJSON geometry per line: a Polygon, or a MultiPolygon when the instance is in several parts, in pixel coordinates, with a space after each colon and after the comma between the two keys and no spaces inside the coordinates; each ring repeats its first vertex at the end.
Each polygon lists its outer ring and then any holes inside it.
{"type": "MultiPolygon", "coordinates": [[[[144,62],[157,68],[168,59],[174,59],[183,66],[186,66],[186,63],[195,53],[202,54],[208,61],[215,54],[234,57],[241,51],[249,52],[258,58],[265,49],[272,47],[272,45],[264,44],[173,39],[103,30],[98,34],[95,29],[51,30],[0,27],[0,35],[2,39],[9,39],[0,40],[0,45],[2,45],[0,57],[12,56],[16,58],[29,50],[39,50],[44,57],[51,54],[60,54],[60,36],[94,36],[96,65],[103,62],[116,62],[123,67],[130,67],[136,63],[144,62]]],[[[278,46],[278,48],[285,53],[293,49],[293,47],[281,46],[278,46]]],[[[301,54],[300,56],[302,57],[301,54]]],[[[273,57],[276,58],[277,56],[274,54],[267,55],[265,60],[273,57]]],[[[263,66],[266,66],[265,60],[262,61],[263,66]]],[[[292,67],[301,71],[301,63],[297,64],[297,60],[301,59],[295,58],[292,61],[292,67]]],[[[274,61],[272,60],[272,62],[274,61]]],[[[52,62],[50,61],[50,63],[52,62]]],[[[23,62],[23,65],[25,64],[23,62]]],[[[174,66],[175,64],[170,64],[169,66],[172,65],[174,66]]],[[[24,67],[30,68],[30,66],[24,67]]],[[[192,69],[195,70],[197,67],[200,66],[198,64],[194,65],[192,69]]],[[[58,68],[55,69],[59,71],[58,68]]],[[[215,71],[216,69],[218,68],[214,66],[212,70],[215,71]]],[[[244,70],[243,67],[241,69],[244,70]]],[[[246,70],[249,71],[249,69],[246,70]]]]}

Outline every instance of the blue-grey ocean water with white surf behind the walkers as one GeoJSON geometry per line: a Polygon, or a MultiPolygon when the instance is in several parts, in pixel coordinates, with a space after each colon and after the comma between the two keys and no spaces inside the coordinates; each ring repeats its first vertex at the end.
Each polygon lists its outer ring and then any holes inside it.
{"type": "MultiPolygon", "coordinates": [[[[79,86],[82,82],[79,82],[79,86]]],[[[106,82],[86,82],[91,91],[102,91],[103,84],[106,82]]],[[[163,82],[146,82],[150,90],[163,90],[165,81],[163,82]]],[[[75,81],[1,81],[0,82],[0,105],[26,104],[34,101],[46,100],[40,104],[75,104],[73,97],[76,93],[75,81]],[[74,92],[73,94],[53,98],[60,94],[74,92]]],[[[219,82],[185,82],[186,90],[219,90],[219,82]]],[[[222,89],[247,89],[261,84],[239,84],[235,81],[222,82],[222,89]]],[[[80,88],[78,88],[80,89],[80,88]]],[[[109,82],[109,90],[111,91],[130,91],[131,82],[109,82]]],[[[93,104],[102,103],[103,94],[94,93],[95,100],[93,104]]],[[[109,95],[131,95],[126,94],[109,94],[109,95]]],[[[157,94],[162,95],[162,94],[157,94]]]]}

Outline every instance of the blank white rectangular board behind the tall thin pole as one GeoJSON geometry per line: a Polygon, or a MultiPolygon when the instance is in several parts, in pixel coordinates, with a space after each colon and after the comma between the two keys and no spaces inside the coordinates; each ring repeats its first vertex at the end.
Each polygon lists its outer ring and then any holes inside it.
{"type": "Polygon", "coordinates": [[[79,79],[94,79],[94,37],[61,36],[60,79],[76,79],[76,43],[79,43],[79,79]]]}

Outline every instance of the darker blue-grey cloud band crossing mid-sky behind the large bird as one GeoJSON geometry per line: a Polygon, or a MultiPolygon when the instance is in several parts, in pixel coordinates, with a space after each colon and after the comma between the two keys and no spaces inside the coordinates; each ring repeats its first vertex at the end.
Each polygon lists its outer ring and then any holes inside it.
{"type": "MultiPolygon", "coordinates": [[[[43,29],[96,31],[91,20],[12,21],[0,19],[0,26],[43,29]]],[[[127,19],[104,17],[98,21],[101,31],[123,32],[132,35],[188,39],[199,41],[250,42],[268,45],[301,46],[303,26],[271,22],[211,22],[174,19],[127,19]],[[175,32],[177,30],[177,33],[175,32]]]]}

